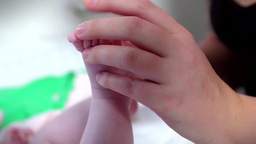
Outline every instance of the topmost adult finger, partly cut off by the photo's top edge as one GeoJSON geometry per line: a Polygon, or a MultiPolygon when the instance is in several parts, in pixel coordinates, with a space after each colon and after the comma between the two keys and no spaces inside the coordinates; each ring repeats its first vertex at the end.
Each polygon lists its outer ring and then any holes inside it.
{"type": "Polygon", "coordinates": [[[136,16],[162,27],[171,34],[184,30],[169,13],[148,0],[84,0],[84,6],[91,11],[136,16]]]}

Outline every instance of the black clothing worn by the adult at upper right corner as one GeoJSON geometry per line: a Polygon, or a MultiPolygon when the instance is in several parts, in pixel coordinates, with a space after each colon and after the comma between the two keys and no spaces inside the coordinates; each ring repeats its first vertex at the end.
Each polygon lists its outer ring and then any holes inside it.
{"type": "Polygon", "coordinates": [[[256,61],[256,4],[243,7],[234,0],[211,0],[211,21],[220,41],[249,59],[245,89],[256,97],[256,63],[251,62],[256,61]]]}

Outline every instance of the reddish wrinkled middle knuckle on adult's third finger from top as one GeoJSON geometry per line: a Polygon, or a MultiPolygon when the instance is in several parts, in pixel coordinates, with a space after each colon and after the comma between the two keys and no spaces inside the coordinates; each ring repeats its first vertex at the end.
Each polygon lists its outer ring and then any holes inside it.
{"type": "Polygon", "coordinates": [[[122,63],[126,66],[132,66],[137,61],[137,53],[133,49],[123,51],[122,63]]]}

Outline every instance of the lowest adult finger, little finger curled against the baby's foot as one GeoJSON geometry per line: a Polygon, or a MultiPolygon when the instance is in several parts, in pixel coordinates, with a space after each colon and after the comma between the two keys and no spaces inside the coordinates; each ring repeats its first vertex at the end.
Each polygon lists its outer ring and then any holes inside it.
{"type": "Polygon", "coordinates": [[[99,73],[96,79],[101,86],[139,101],[151,109],[157,109],[162,106],[161,101],[164,99],[160,97],[164,95],[164,91],[161,85],[108,72],[99,73]]]}

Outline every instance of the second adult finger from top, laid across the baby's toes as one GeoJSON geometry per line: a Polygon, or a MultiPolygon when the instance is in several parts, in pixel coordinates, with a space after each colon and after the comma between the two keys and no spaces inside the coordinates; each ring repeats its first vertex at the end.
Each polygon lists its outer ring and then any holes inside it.
{"type": "MultiPolygon", "coordinates": [[[[76,29],[79,39],[127,40],[140,49],[167,57],[172,39],[164,29],[138,17],[101,18],[84,22],[76,29]]],[[[173,42],[175,43],[175,42],[173,42]]]]}

